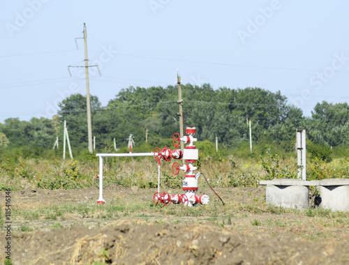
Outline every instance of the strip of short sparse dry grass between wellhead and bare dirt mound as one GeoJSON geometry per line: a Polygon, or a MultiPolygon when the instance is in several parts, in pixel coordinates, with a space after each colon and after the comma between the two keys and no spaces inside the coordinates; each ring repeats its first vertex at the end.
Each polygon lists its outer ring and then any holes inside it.
{"type": "MultiPolygon", "coordinates": [[[[205,206],[185,207],[170,204],[156,206],[150,199],[144,199],[147,190],[142,194],[127,195],[111,199],[104,205],[96,202],[64,202],[49,206],[39,206],[36,209],[14,207],[13,226],[19,225],[23,232],[33,229],[70,227],[83,222],[89,227],[103,227],[117,224],[181,224],[181,223],[212,223],[226,230],[242,232],[244,234],[272,234],[274,236],[302,237],[318,241],[340,240],[348,241],[341,236],[343,229],[349,227],[349,213],[332,212],[326,209],[306,210],[283,209],[265,204],[262,199],[255,200],[257,195],[251,190],[240,189],[234,196],[239,198],[226,199],[223,206],[218,199],[211,198],[205,206]],[[237,195],[239,193],[239,195],[237,195]],[[21,220],[25,225],[20,225],[21,220]]],[[[232,196],[228,190],[225,197],[232,196]]],[[[261,196],[260,196],[261,197],[261,196]]],[[[228,197],[229,198],[229,197],[228,197]]]]}

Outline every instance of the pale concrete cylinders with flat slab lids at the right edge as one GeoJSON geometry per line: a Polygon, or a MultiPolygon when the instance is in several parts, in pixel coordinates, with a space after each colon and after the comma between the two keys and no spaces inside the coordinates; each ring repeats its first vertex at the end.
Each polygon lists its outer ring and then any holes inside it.
{"type": "Polygon", "coordinates": [[[273,179],[260,181],[267,185],[266,202],[275,206],[306,209],[309,207],[309,186],[316,186],[320,193],[319,207],[331,211],[349,211],[349,179],[273,179]]]}

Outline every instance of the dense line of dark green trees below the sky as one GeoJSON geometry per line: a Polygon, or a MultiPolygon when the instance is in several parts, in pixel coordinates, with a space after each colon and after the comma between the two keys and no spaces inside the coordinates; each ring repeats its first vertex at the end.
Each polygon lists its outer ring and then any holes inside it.
{"type": "MultiPolygon", "coordinates": [[[[218,142],[228,148],[248,142],[251,121],[253,142],[280,144],[295,142],[295,130],[305,129],[307,138],[317,144],[349,144],[349,107],[347,103],[317,103],[311,117],[288,103],[280,91],[260,88],[213,89],[210,84],[182,85],[184,126],[197,128],[197,137],[218,142]]],[[[105,107],[91,96],[92,132],[98,147],[116,139],[117,146],[127,144],[128,135],[149,144],[171,138],[179,132],[177,86],[151,86],[122,89],[105,107]]],[[[52,119],[6,119],[0,123],[0,149],[36,146],[52,149],[57,136],[62,140],[63,123],[67,122],[70,144],[87,148],[86,96],[73,94],[59,103],[52,119]]]]}

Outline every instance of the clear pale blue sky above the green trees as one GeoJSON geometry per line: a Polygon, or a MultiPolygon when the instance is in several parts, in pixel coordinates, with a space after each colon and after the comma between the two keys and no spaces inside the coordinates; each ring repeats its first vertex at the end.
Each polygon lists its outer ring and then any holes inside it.
{"type": "Polygon", "coordinates": [[[90,93],[103,106],[128,86],[181,81],[214,89],[281,91],[310,116],[349,99],[348,1],[53,1],[0,3],[0,122],[52,118],[57,104],[90,93]]]}

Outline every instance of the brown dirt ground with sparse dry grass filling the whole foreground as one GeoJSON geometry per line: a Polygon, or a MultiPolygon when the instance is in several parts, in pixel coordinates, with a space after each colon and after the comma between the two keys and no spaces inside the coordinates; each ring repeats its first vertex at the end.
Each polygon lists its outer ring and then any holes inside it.
{"type": "Polygon", "coordinates": [[[200,189],[211,202],[193,208],[104,191],[101,206],[97,188],[12,192],[13,264],[349,264],[349,213],[269,206],[263,187],[217,188],[224,206],[200,189]]]}

